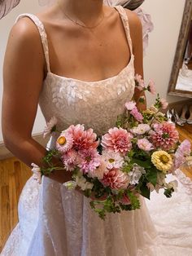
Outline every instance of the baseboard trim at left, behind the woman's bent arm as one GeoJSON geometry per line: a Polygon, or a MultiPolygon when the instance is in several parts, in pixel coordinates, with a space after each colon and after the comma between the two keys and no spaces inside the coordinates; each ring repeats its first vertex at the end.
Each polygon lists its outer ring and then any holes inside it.
{"type": "MultiPolygon", "coordinates": [[[[43,139],[42,134],[33,135],[33,139],[35,139],[42,146],[46,146],[47,140],[43,139]]],[[[15,157],[5,146],[3,142],[0,142],[0,160],[7,159],[10,157],[15,157]]]]}

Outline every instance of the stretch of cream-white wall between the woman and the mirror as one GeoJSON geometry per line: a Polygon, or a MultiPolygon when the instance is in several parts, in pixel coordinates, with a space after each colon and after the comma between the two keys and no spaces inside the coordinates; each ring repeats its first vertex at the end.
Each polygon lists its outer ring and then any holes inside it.
{"type": "MultiPolygon", "coordinates": [[[[144,58],[145,80],[155,80],[156,90],[168,102],[183,99],[169,96],[167,91],[184,6],[185,0],[146,0],[142,4],[142,9],[151,14],[154,24],[144,58]]],[[[153,103],[151,95],[147,99],[148,104],[153,103]]]]}

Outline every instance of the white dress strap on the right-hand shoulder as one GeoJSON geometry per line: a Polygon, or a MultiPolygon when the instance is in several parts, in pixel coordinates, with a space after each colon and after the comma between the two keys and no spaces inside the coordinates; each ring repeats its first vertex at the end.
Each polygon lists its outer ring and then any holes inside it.
{"type": "Polygon", "coordinates": [[[133,55],[133,44],[132,44],[131,35],[130,35],[128,15],[127,15],[126,11],[124,10],[124,7],[116,6],[115,8],[119,12],[120,18],[124,24],[124,30],[125,30],[125,33],[127,36],[128,43],[129,43],[130,52],[131,52],[131,55],[133,55]]]}

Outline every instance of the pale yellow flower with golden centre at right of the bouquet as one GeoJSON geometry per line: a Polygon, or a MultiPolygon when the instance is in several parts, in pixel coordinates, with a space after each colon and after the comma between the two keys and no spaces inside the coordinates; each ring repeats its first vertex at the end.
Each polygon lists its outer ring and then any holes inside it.
{"type": "Polygon", "coordinates": [[[172,157],[163,150],[153,152],[151,161],[158,170],[167,173],[172,167],[172,157]]]}

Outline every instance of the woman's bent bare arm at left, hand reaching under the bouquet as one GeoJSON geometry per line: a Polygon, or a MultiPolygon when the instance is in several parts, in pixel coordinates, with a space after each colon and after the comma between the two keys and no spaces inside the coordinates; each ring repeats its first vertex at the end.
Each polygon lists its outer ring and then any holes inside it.
{"type": "MultiPolygon", "coordinates": [[[[2,135],[6,147],[25,164],[42,166],[43,148],[32,138],[46,61],[36,26],[22,18],[11,29],[3,66],[2,135]]],[[[56,170],[50,178],[69,180],[56,170]]]]}

